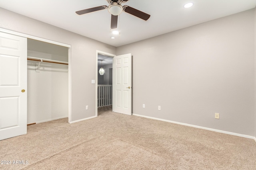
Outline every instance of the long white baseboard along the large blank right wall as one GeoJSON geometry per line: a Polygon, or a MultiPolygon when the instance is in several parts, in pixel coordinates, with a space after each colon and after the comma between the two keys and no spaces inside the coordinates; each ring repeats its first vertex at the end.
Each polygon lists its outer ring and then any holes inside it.
{"type": "Polygon", "coordinates": [[[236,136],[240,136],[240,137],[246,137],[246,138],[254,139],[255,142],[256,142],[256,137],[249,136],[249,135],[242,135],[242,134],[239,134],[239,133],[233,133],[233,132],[228,132],[228,131],[221,131],[221,130],[218,130],[218,129],[211,129],[211,128],[208,128],[208,127],[202,127],[202,126],[197,126],[197,125],[190,125],[190,124],[187,124],[187,123],[180,123],[180,122],[176,122],[176,121],[170,121],[170,120],[165,120],[165,119],[159,119],[159,118],[149,117],[149,116],[144,116],[144,115],[137,115],[137,114],[132,114],[132,115],[140,116],[140,117],[146,117],[146,118],[149,118],[149,119],[155,119],[155,120],[160,120],[160,121],[166,121],[166,122],[170,122],[170,123],[176,123],[176,124],[179,124],[179,125],[185,125],[185,126],[190,126],[190,127],[196,127],[196,128],[200,128],[200,129],[206,129],[206,130],[209,130],[209,131],[215,131],[215,132],[220,132],[220,133],[226,133],[226,134],[229,134],[229,135],[236,135],[236,136]]]}

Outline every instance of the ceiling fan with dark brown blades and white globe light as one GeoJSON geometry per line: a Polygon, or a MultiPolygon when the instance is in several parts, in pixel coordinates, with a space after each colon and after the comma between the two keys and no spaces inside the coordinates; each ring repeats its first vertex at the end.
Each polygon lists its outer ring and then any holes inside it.
{"type": "Polygon", "coordinates": [[[82,15],[87,14],[94,11],[104,10],[108,9],[108,12],[111,14],[111,29],[117,28],[117,19],[118,15],[121,14],[122,11],[127,12],[129,14],[132,14],[133,16],[136,16],[138,18],[141,18],[142,20],[148,20],[150,18],[149,14],[146,14],[140,10],[136,10],[135,8],[132,8],[130,6],[124,5],[122,6],[122,3],[127,2],[128,0],[106,0],[109,3],[109,6],[103,5],[103,6],[97,6],[94,8],[88,8],[85,10],[76,11],[76,14],[82,15]]]}

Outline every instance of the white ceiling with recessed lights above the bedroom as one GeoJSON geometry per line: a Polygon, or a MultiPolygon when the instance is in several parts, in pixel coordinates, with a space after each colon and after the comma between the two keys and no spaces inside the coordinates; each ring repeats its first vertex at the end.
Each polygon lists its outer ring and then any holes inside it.
{"type": "Polygon", "coordinates": [[[120,35],[115,35],[115,39],[110,38],[108,10],[81,16],[75,13],[102,5],[108,6],[107,0],[0,0],[1,8],[115,47],[249,10],[256,6],[256,0],[129,0],[122,5],[151,16],[144,21],[122,12],[116,29],[120,35]],[[194,6],[186,9],[186,2],[193,2],[194,6]]]}

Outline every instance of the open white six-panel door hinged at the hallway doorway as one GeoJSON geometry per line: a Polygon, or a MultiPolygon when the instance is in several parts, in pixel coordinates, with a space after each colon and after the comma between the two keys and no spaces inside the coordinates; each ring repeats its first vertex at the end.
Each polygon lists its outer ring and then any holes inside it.
{"type": "Polygon", "coordinates": [[[113,58],[113,111],[132,115],[132,55],[113,58]]]}

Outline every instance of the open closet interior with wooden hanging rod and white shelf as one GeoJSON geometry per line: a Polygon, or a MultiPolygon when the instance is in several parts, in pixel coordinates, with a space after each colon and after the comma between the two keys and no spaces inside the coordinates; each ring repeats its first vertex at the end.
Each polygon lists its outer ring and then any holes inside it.
{"type": "Polygon", "coordinates": [[[27,123],[68,117],[68,47],[27,39],[27,123]]]}

